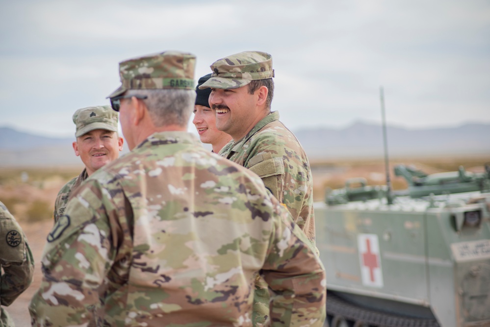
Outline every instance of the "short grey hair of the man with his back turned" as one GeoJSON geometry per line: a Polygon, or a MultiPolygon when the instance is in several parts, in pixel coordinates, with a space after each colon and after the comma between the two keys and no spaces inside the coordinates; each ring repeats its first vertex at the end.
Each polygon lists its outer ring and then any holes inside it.
{"type": "Polygon", "coordinates": [[[196,101],[195,90],[156,89],[128,90],[128,96],[147,96],[144,101],[156,127],[186,127],[196,101]]]}

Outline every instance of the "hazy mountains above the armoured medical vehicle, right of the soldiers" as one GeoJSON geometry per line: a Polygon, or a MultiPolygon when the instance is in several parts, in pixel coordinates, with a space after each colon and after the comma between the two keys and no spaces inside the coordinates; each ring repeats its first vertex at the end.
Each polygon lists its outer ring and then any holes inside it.
{"type": "MultiPolygon", "coordinates": [[[[384,153],[383,128],[357,122],[342,129],[295,131],[310,158],[380,157],[384,153]]],[[[390,157],[434,155],[489,155],[490,124],[407,129],[387,126],[390,157]]]]}

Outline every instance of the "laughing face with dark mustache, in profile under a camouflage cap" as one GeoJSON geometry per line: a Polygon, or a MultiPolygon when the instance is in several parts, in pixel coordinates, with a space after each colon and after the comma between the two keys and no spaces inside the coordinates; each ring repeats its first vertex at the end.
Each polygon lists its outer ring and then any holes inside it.
{"type": "Polygon", "coordinates": [[[248,86],[237,89],[211,89],[209,105],[216,114],[216,127],[230,134],[234,141],[242,139],[265,115],[258,106],[259,90],[248,93],[248,86]]]}

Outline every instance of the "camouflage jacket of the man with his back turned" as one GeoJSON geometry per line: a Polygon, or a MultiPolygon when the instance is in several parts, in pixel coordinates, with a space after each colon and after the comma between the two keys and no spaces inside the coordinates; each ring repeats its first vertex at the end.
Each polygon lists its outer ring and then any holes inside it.
{"type": "Polygon", "coordinates": [[[34,326],[252,326],[260,270],[272,326],[322,326],[325,271],[247,169],[186,132],[99,169],[48,235],[34,326]]]}

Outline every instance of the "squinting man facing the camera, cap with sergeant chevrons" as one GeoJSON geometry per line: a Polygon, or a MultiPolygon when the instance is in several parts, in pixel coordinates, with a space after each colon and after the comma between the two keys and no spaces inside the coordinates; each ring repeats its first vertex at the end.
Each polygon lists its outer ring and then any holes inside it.
{"type": "Polygon", "coordinates": [[[108,105],[78,109],[73,114],[77,126],[73,150],[85,168],[61,188],[54,202],[54,222],[64,213],[70,195],[80,184],[103,165],[119,157],[123,138],[117,133],[117,112],[108,105]]]}

